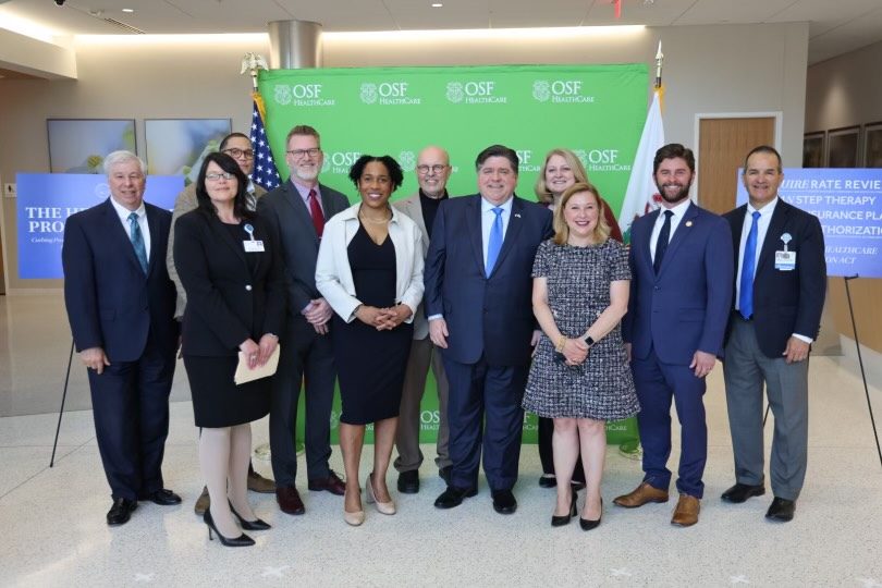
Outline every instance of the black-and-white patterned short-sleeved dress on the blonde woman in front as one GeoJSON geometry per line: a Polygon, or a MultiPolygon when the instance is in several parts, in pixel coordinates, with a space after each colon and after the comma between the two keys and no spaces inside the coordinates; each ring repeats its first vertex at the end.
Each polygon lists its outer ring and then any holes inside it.
{"type": "MultiPolygon", "coordinates": [[[[608,238],[574,247],[546,241],[536,252],[534,278],[546,278],[554,322],[579,338],[610,305],[610,283],[630,280],[627,249],[608,238]]],[[[554,343],[542,334],[532,358],[524,408],[541,417],[621,420],[640,405],[634,390],[620,324],[598,341],[578,366],[554,360],[554,343]]]]}

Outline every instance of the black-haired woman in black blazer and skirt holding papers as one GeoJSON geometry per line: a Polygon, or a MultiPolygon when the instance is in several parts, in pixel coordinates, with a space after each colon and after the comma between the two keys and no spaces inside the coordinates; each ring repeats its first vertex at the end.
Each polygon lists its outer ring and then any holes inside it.
{"type": "Polygon", "coordinates": [[[284,278],[267,224],[249,211],[248,179],[230,156],[206,157],[198,208],[175,224],[174,264],[187,293],[184,366],[199,437],[199,463],[211,497],[204,520],[224,546],[250,546],[243,534],[268,529],[247,501],[250,421],[269,413],[270,380],[233,383],[238,352],[253,369],[275,351],[285,310],[284,278]],[[229,500],[228,500],[229,499],[229,500]]]}

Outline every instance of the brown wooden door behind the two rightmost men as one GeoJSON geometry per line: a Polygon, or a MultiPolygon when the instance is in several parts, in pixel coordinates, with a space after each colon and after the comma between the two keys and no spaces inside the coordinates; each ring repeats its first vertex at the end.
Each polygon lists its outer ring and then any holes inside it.
{"type": "Polygon", "coordinates": [[[698,204],[722,215],[735,208],[737,170],[758,145],[775,144],[775,119],[701,119],[698,128],[698,204]]]}

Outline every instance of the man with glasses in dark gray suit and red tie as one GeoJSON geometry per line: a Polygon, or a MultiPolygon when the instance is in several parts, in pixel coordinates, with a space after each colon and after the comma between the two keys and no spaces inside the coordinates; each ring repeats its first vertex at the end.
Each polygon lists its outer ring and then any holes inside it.
{"type": "Polygon", "coordinates": [[[331,402],[336,369],[331,347],[330,305],[316,290],[316,258],[324,222],[350,206],[345,196],[319,183],[324,156],[311,126],[298,125],[285,140],[287,182],[260,200],[257,210],[281,244],[289,280],[289,311],[282,356],[270,409],[270,449],[275,499],[287,514],[305,507],[294,485],[297,476],[295,428],[301,384],[306,391],[306,476],[309,490],[343,495],[346,486],[329,467],[331,402]]]}

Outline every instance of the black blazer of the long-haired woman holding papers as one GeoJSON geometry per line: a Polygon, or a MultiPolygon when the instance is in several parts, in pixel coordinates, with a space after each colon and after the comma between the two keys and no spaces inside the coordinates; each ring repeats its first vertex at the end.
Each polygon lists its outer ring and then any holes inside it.
{"type": "Polygon", "coordinates": [[[245,253],[216,216],[201,210],[177,219],[174,264],[187,293],[183,352],[187,355],[235,355],[243,341],[279,335],[285,313],[281,253],[268,223],[247,221],[264,252],[245,253]],[[254,269],[248,260],[256,260],[254,269]]]}

